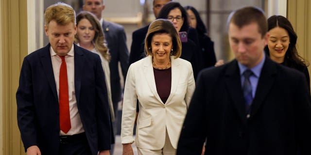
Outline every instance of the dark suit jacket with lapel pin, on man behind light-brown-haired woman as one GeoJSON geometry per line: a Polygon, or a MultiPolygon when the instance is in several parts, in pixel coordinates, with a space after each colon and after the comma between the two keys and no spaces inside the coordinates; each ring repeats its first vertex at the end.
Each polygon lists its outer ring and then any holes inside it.
{"type": "Polygon", "coordinates": [[[121,83],[119,75],[119,62],[125,81],[127,70],[129,67],[129,53],[126,46],[126,35],[123,27],[119,24],[105,21],[103,22],[103,31],[107,41],[108,49],[111,55],[109,62],[110,67],[110,85],[111,97],[115,114],[118,109],[118,102],[121,101],[121,83]]]}

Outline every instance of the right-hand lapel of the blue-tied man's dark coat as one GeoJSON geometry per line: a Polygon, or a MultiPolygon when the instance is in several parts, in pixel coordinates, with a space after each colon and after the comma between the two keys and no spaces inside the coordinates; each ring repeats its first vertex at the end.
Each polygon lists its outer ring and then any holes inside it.
{"type": "Polygon", "coordinates": [[[256,114],[267,94],[270,92],[270,89],[275,81],[275,77],[276,64],[266,57],[258,80],[256,94],[251,107],[250,118],[256,114]]]}

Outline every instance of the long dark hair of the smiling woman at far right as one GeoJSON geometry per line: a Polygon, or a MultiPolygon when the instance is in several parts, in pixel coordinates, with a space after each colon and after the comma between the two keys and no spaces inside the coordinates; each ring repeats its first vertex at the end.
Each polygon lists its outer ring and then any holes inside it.
{"type": "MultiPolygon", "coordinates": [[[[288,67],[308,66],[309,64],[306,64],[306,61],[297,52],[297,34],[291,22],[284,16],[274,15],[268,18],[268,31],[275,27],[285,29],[290,36],[290,44],[285,53],[284,65],[288,67]]],[[[270,55],[268,46],[266,46],[264,50],[267,55],[270,55]]]]}

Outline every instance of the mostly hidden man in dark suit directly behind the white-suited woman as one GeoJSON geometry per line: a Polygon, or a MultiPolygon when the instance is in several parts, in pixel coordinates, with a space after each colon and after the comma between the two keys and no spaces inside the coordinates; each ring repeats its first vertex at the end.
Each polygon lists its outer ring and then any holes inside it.
{"type": "MultiPolygon", "coordinates": [[[[159,14],[162,7],[170,1],[172,0],[154,0],[153,1],[153,11],[155,14],[155,18],[159,14]]],[[[143,51],[144,51],[144,40],[145,40],[147,31],[148,31],[148,28],[149,28],[149,25],[133,32],[129,64],[137,62],[138,60],[146,56],[143,51]]]]}

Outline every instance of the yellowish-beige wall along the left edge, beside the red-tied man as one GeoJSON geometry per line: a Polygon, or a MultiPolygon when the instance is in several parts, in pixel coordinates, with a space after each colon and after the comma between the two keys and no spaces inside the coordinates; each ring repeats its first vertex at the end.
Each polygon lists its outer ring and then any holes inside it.
{"type": "Polygon", "coordinates": [[[0,155],[23,155],[24,149],[17,127],[15,93],[23,58],[27,55],[26,0],[0,0],[2,51],[2,132],[0,155]]]}

